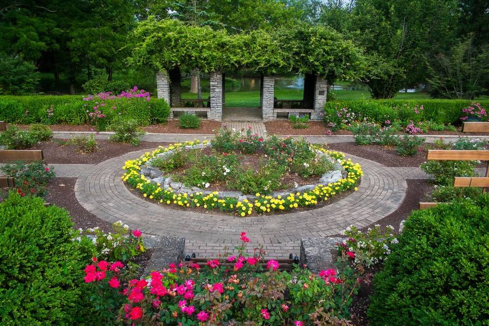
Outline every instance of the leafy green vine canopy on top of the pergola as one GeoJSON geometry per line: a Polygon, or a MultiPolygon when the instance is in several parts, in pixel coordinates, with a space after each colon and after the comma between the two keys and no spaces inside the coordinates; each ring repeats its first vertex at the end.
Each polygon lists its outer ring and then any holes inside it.
{"type": "Polygon", "coordinates": [[[268,32],[228,34],[174,19],[142,21],[130,61],[154,69],[202,72],[250,69],[263,74],[311,73],[350,79],[363,67],[361,49],[325,26],[301,24],[268,32]]]}

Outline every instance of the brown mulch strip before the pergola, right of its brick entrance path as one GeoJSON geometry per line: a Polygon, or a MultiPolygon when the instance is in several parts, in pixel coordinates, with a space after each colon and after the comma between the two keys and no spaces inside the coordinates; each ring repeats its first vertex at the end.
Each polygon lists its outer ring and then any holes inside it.
{"type": "MultiPolygon", "coordinates": [[[[267,134],[280,134],[280,135],[315,135],[325,136],[328,135],[331,130],[322,121],[309,121],[307,123],[307,129],[294,129],[292,124],[287,120],[275,120],[265,122],[267,134]]],[[[353,134],[349,130],[337,130],[332,135],[351,135],[353,134]]]]}

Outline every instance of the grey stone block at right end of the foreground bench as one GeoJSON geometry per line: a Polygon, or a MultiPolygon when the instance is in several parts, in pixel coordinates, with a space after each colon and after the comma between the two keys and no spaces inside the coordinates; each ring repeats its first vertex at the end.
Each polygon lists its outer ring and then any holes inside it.
{"type": "Polygon", "coordinates": [[[342,238],[302,238],[301,239],[301,265],[306,264],[312,273],[319,273],[322,269],[335,268],[333,263],[338,255],[337,244],[342,238]]]}

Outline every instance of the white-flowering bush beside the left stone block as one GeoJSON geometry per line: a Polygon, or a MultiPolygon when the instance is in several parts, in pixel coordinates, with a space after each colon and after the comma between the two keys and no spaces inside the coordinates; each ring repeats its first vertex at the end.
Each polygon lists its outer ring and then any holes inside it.
{"type": "Polygon", "coordinates": [[[145,249],[140,230],[130,230],[129,226],[117,221],[112,225],[114,232],[104,233],[100,228],[83,231],[80,236],[90,234],[97,249],[97,257],[106,261],[128,262],[134,256],[139,256],[145,249]]]}

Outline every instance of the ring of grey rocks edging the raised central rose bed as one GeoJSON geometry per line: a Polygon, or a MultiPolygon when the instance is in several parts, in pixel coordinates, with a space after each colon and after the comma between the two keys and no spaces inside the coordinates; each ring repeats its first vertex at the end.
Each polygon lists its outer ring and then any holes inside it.
{"type": "MultiPolygon", "coordinates": [[[[190,149],[203,149],[206,147],[212,147],[211,143],[207,144],[194,144],[194,145],[186,145],[184,146],[185,150],[190,150],[190,149]]],[[[330,161],[334,164],[334,169],[332,171],[329,171],[327,173],[324,173],[321,178],[319,179],[318,182],[315,184],[306,184],[306,185],[301,185],[297,186],[292,189],[288,189],[287,191],[281,191],[281,192],[273,192],[269,194],[271,197],[277,197],[277,196],[287,196],[290,193],[304,193],[313,190],[315,187],[318,185],[327,185],[329,183],[335,183],[338,180],[346,177],[347,172],[343,168],[343,166],[340,164],[340,162],[335,161],[331,156],[328,156],[327,154],[311,148],[313,151],[316,152],[316,155],[319,157],[327,157],[330,159],[330,161]]],[[[174,150],[169,150],[167,152],[159,153],[156,154],[156,157],[166,157],[170,156],[174,153],[174,150]]],[[[165,176],[161,170],[158,168],[154,167],[151,165],[151,161],[154,158],[148,160],[145,165],[141,166],[141,174],[143,174],[149,181],[151,181],[154,184],[159,183],[162,188],[164,189],[169,189],[171,188],[176,194],[195,194],[196,192],[200,192],[203,195],[209,195],[212,193],[211,190],[207,189],[201,189],[199,187],[193,186],[193,187],[186,187],[185,184],[182,182],[174,182],[172,181],[171,177],[165,176]]],[[[255,195],[249,195],[249,194],[243,194],[242,192],[239,191],[228,191],[228,192],[219,192],[218,194],[219,199],[225,199],[225,198],[235,198],[239,201],[243,201],[245,199],[248,199],[249,201],[254,201],[258,197],[255,195]]]]}

